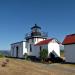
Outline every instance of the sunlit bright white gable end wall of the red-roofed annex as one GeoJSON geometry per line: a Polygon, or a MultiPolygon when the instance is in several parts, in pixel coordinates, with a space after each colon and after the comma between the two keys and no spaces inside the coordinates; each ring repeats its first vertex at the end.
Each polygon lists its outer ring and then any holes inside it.
{"type": "Polygon", "coordinates": [[[60,57],[60,45],[56,41],[52,41],[48,44],[48,55],[54,51],[56,57],[60,57]]]}

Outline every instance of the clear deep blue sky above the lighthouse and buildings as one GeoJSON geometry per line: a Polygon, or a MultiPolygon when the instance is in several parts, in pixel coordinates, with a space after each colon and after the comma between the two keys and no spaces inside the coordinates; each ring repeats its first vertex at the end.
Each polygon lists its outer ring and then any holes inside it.
{"type": "Polygon", "coordinates": [[[35,23],[62,42],[75,33],[75,0],[0,0],[0,50],[24,40],[35,23]]]}

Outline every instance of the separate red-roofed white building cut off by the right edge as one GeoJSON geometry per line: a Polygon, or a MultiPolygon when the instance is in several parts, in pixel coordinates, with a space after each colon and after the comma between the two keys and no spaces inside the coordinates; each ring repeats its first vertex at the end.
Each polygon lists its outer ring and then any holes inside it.
{"type": "Polygon", "coordinates": [[[66,62],[75,63],[75,34],[67,35],[62,44],[66,62]]]}

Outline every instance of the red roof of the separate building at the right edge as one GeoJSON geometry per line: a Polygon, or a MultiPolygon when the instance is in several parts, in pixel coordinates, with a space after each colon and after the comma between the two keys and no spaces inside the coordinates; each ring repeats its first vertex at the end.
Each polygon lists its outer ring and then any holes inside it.
{"type": "Polygon", "coordinates": [[[62,42],[63,45],[67,45],[67,44],[75,44],[75,34],[70,34],[67,35],[64,39],[64,41],[62,42]]]}

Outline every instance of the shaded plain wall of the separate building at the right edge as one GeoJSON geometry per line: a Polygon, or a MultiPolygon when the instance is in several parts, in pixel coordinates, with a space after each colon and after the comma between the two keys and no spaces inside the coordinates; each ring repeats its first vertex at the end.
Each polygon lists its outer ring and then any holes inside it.
{"type": "Polygon", "coordinates": [[[65,45],[64,53],[66,62],[75,63],[75,44],[65,45]]]}

